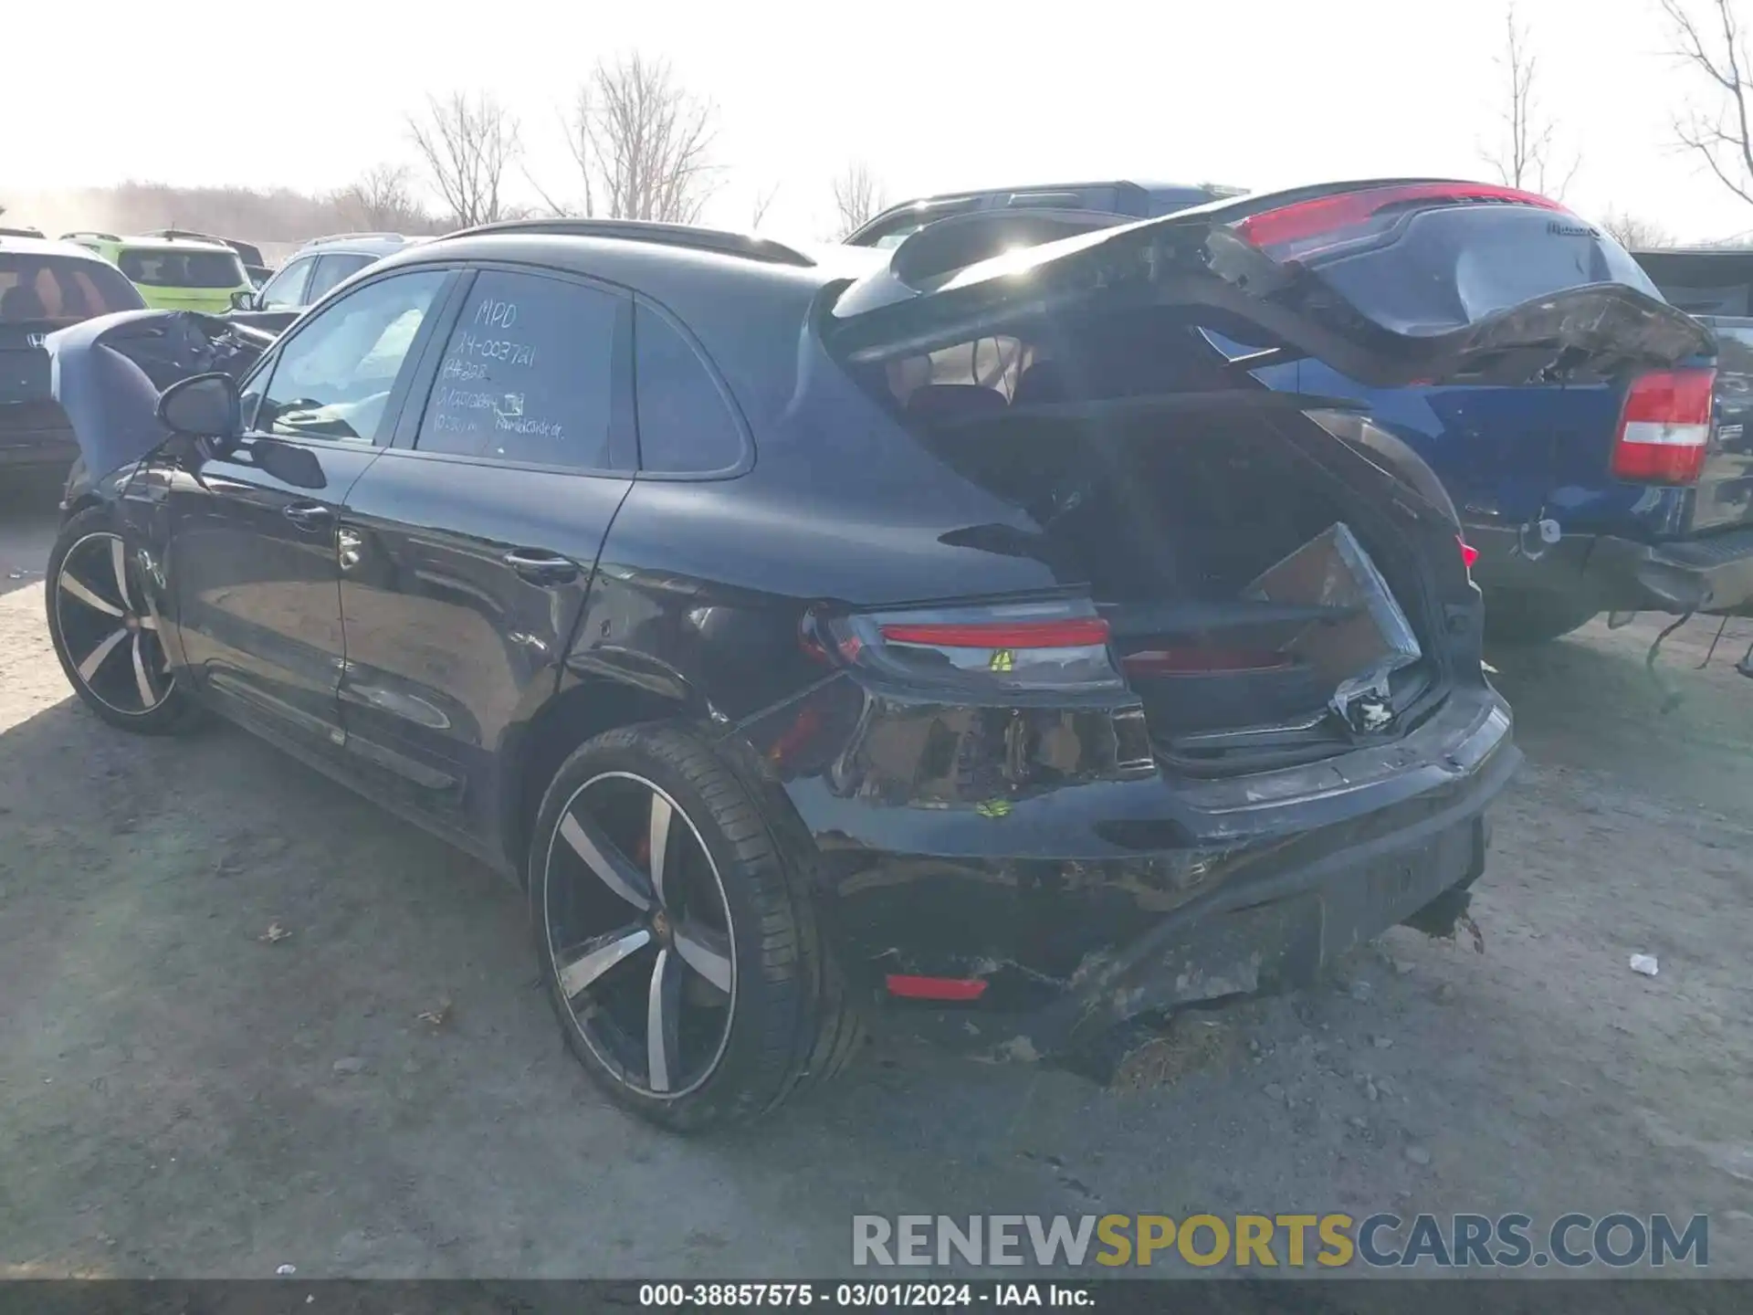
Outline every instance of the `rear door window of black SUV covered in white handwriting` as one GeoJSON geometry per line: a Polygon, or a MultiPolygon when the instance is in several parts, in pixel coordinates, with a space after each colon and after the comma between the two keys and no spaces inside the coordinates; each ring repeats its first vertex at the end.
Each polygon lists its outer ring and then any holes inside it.
{"type": "Polygon", "coordinates": [[[422,452],[608,470],[626,387],[628,300],[484,270],[451,330],[421,417],[422,452]]]}

